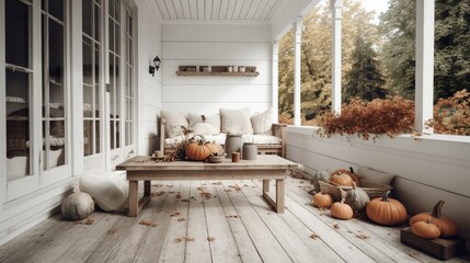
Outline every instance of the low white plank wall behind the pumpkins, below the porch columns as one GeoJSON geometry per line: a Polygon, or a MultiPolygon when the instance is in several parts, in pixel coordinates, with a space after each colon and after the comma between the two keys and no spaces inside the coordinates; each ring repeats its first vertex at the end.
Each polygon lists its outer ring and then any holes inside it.
{"type": "Polygon", "coordinates": [[[455,219],[460,235],[470,239],[470,138],[383,136],[374,142],[356,136],[319,138],[314,133],[311,127],[287,132],[287,158],[302,163],[309,174],[359,165],[396,174],[393,194],[410,215],[431,211],[443,199],[444,215],[455,219]]]}

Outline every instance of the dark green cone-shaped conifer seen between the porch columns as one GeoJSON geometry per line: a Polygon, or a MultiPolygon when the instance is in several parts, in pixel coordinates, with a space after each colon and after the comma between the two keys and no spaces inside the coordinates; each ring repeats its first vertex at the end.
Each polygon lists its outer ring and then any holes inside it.
{"type": "Polygon", "coordinates": [[[346,84],[343,85],[343,102],[349,102],[354,98],[369,102],[374,99],[383,99],[387,94],[387,90],[383,89],[386,81],[380,72],[380,61],[376,59],[377,54],[372,49],[372,44],[358,34],[354,47],[349,58],[352,67],[346,72],[346,84]]]}

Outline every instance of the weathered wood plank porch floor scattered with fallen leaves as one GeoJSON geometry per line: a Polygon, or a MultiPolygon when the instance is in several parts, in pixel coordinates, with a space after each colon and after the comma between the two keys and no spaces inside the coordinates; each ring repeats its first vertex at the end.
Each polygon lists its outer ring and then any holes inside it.
{"type": "Polygon", "coordinates": [[[287,180],[283,215],[261,187],[260,181],[154,183],[138,217],[95,211],[87,225],[57,215],[1,245],[0,262],[436,262],[401,244],[398,228],[336,220],[312,207],[307,180],[287,180]]]}

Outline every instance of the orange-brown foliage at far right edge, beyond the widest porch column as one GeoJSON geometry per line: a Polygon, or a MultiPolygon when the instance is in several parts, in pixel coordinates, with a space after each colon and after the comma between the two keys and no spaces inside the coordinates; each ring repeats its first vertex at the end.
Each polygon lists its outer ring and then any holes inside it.
{"type": "Polygon", "coordinates": [[[434,105],[434,121],[428,123],[437,134],[470,135],[470,92],[461,90],[434,105]]]}

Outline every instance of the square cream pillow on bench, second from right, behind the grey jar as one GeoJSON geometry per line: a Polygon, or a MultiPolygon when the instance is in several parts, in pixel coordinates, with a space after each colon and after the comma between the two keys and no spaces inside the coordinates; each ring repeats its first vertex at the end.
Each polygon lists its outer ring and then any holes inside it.
{"type": "Polygon", "coordinates": [[[221,130],[230,134],[253,134],[250,108],[220,108],[221,130]]]}

